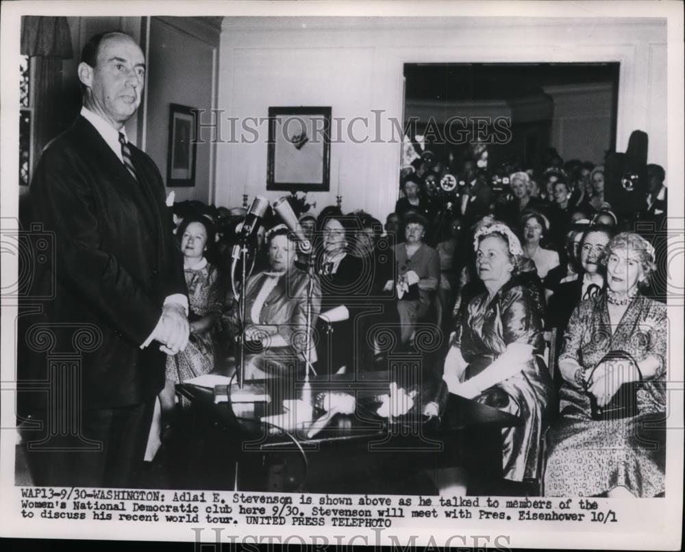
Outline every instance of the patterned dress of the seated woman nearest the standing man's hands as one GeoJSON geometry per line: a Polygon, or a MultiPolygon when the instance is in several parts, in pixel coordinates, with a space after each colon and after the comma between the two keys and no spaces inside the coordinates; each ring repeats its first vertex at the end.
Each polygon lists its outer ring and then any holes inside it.
{"type": "MultiPolygon", "coordinates": [[[[197,320],[210,313],[219,319],[223,308],[223,294],[219,285],[219,272],[208,262],[195,268],[186,268],[186,284],[190,302],[189,319],[197,320]]],[[[214,329],[190,334],[188,346],[175,356],[166,357],[166,379],[179,383],[209,373],[214,368],[214,329]]]]}

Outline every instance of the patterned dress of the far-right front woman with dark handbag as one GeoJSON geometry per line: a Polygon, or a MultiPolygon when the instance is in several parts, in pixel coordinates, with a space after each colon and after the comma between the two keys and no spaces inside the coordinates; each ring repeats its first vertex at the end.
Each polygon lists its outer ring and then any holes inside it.
{"type": "Polygon", "coordinates": [[[666,305],[638,295],[628,305],[612,334],[606,294],[582,301],[571,315],[560,360],[575,360],[592,370],[606,353],[623,350],[636,361],[656,357],[656,375],[640,385],[638,415],[613,421],[593,421],[590,399],[564,382],[560,416],[550,428],[545,495],[588,497],[625,486],[636,497],[664,491],[664,431],[645,428],[663,420],[666,412],[666,305]]]}

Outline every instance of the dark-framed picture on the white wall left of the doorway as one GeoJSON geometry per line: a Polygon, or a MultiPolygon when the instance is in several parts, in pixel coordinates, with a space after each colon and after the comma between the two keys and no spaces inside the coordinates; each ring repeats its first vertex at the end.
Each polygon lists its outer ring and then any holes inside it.
{"type": "Polygon", "coordinates": [[[267,190],[327,192],[331,108],[269,108],[267,190]]]}

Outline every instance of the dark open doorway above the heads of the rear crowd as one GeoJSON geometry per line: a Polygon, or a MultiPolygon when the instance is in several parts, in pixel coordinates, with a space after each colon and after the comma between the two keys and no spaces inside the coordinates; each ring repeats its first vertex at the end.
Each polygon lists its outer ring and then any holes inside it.
{"type": "Polygon", "coordinates": [[[459,179],[464,164],[539,172],[615,149],[619,63],[412,63],[404,76],[403,175],[422,176],[425,152],[459,179]]]}

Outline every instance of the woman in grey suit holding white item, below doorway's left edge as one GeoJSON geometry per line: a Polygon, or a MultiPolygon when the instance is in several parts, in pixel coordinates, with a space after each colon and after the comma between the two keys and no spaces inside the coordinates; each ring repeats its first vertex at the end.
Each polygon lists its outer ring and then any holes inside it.
{"type": "Polygon", "coordinates": [[[397,287],[400,339],[402,344],[408,344],[416,331],[416,323],[426,316],[438,290],[440,257],[435,249],[423,243],[428,226],[425,216],[408,212],[404,223],[405,242],[395,246],[397,281],[386,282],[386,289],[397,287]]]}

